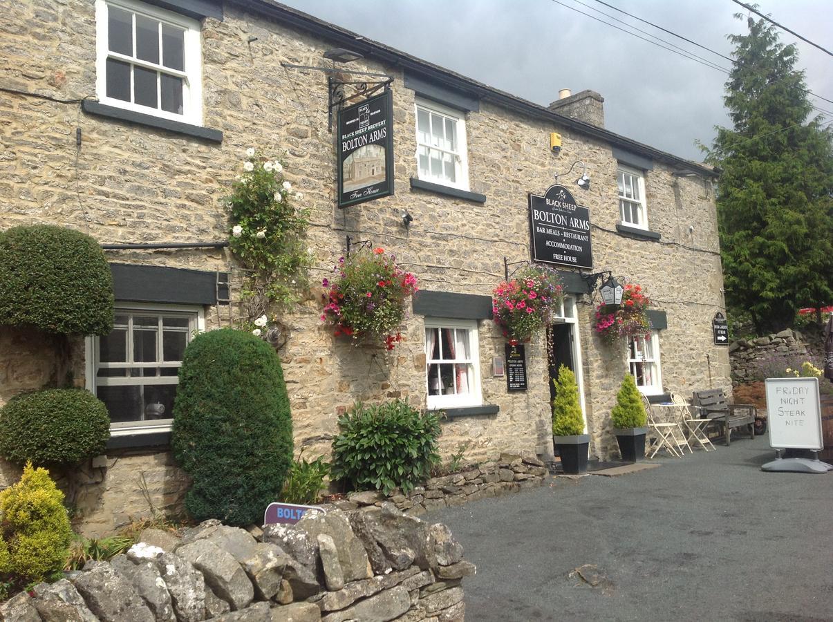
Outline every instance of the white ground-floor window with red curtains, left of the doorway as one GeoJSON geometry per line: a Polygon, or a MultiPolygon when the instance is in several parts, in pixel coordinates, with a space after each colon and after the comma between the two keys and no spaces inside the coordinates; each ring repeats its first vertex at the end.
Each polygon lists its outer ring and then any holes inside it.
{"type": "Polygon", "coordinates": [[[476,321],[426,318],[428,408],[481,406],[478,351],[476,321]]]}

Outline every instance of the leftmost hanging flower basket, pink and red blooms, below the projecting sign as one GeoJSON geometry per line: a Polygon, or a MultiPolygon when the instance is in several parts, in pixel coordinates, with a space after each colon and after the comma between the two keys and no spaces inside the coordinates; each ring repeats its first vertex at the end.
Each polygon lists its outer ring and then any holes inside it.
{"type": "Polygon", "coordinates": [[[324,279],[324,312],[321,319],[333,335],[382,340],[388,350],[402,341],[400,328],[407,299],[416,291],[416,276],[397,267],[396,256],[383,248],[354,251],[341,257],[337,276],[324,279]]]}

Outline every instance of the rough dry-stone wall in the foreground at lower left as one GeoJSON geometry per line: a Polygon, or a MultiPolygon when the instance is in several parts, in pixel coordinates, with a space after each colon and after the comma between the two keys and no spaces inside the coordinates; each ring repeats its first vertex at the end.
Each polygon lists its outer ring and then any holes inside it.
{"type": "Polygon", "coordinates": [[[207,520],[174,535],[146,530],[109,562],[91,561],[0,605],[0,620],[343,622],[465,617],[474,565],[445,525],[391,504],[312,511],[296,525],[207,520]],[[257,536],[257,537],[256,537],[257,536]]]}

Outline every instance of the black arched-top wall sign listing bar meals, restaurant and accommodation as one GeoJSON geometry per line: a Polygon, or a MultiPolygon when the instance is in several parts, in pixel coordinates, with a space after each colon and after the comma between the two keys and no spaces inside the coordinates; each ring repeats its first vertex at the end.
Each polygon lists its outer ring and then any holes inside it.
{"type": "Polygon", "coordinates": [[[570,191],[551,186],[543,197],[529,194],[532,261],[592,268],[590,210],[576,205],[570,191]]]}

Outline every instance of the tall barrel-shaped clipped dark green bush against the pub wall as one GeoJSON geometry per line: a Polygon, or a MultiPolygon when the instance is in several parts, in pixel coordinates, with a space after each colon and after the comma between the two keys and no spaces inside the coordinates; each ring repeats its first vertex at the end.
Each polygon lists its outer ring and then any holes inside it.
{"type": "Polygon", "coordinates": [[[194,520],[259,525],[292,463],[281,361],[266,341],[223,328],[197,335],[179,370],[171,445],[192,485],[194,520]]]}

